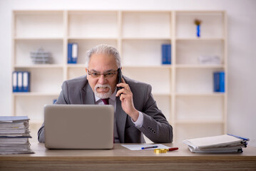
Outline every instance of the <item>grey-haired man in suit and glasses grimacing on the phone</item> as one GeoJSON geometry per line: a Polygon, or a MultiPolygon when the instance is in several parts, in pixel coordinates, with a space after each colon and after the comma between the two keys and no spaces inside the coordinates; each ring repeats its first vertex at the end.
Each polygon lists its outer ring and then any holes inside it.
{"type": "MultiPolygon", "coordinates": [[[[173,128],[158,109],[151,86],[126,76],[118,83],[119,71],[116,48],[104,44],[91,48],[86,53],[86,76],[64,81],[56,104],[113,105],[116,143],[142,143],[143,134],[153,142],[173,142],[173,128]]],[[[44,142],[44,125],[38,135],[44,142]]]]}

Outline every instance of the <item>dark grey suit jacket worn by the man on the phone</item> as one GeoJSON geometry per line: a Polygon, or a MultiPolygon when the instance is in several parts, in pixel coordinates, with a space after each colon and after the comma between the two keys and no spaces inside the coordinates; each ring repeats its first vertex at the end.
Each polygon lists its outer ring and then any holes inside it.
{"type": "MultiPolygon", "coordinates": [[[[143,113],[143,125],[136,128],[122,107],[121,100],[116,98],[116,126],[121,143],[145,142],[143,134],[156,143],[173,142],[173,128],[158,109],[151,86],[123,76],[133,93],[135,109],[143,113]]],[[[56,104],[95,104],[94,93],[86,76],[64,81],[56,104]]],[[[44,142],[44,125],[38,132],[39,142],[44,142]]]]}

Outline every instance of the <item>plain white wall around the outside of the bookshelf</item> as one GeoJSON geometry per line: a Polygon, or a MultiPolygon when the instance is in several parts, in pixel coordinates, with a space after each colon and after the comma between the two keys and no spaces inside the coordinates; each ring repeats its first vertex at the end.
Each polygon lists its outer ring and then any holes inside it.
{"type": "Polygon", "coordinates": [[[256,147],[255,0],[0,0],[0,115],[11,113],[11,11],[16,9],[226,10],[227,132],[256,147]]]}

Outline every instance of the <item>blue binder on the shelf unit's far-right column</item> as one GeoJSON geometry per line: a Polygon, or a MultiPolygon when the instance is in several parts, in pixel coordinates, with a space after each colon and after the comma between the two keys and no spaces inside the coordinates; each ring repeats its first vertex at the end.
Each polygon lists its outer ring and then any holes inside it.
{"type": "Polygon", "coordinates": [[[225,72],[218,71],[213,73],[213,90],[214,92],[225,92],[225,72]]]}

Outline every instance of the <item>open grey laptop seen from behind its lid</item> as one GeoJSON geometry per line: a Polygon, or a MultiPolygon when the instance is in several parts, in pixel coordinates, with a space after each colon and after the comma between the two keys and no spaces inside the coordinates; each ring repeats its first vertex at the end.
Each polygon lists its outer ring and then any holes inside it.
{"type": "Polygon", "coordinates": [[[113,105],[45,105],[45,147],[111,149],[113,120],[113,105]]]}

